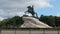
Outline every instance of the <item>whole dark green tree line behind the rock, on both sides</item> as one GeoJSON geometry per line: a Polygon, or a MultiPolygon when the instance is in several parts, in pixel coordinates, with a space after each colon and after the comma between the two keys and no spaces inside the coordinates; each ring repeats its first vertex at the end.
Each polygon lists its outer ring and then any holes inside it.
{"type": "MultiPolygon", "coordinates": [[[[28,15],[24,15],[22,17],[27,16],[28,15]]],[[[0,21],[0,28],[20,28],[20,26],[24,23],[22,17],[14,16],[12,18],[4,19],[3,21],[0,21]]],[[[50,26],[60,27],[60,17],[52,15],[50,16],[41,15],[41,17],[38,19],[50,26]]]]}

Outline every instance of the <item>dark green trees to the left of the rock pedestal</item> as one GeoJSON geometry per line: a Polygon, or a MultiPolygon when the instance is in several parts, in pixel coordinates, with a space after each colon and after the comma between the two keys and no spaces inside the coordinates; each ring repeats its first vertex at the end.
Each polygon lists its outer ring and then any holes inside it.
{"type": "Polygon", "coordinates": [[[13,18],[8,18],[3,20],[0,25],[2,28],[19,28],[24,21],[22,20],[22,17],[15,16],[13,18]]]}

